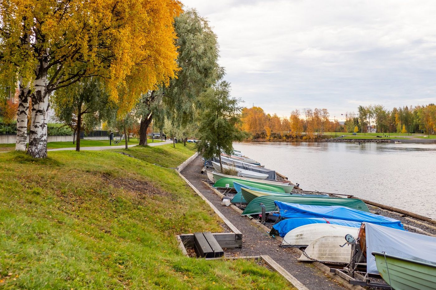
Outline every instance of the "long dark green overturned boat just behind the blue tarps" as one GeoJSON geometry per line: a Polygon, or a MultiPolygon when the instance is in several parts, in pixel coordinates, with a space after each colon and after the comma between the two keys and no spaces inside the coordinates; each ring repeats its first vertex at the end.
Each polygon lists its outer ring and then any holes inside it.
{"type": "Polygon", "coordinates": [[[369,212],[368,206],[360,199],[343,199],[337,197],[304,197],[304,196],[259,196],[253,199],[242,212],[242,216],[262,213],[260,203],[263,203],[266,212],[279,212],[274,201],[307,204],[312,206],[345,206],[369,212]]]}

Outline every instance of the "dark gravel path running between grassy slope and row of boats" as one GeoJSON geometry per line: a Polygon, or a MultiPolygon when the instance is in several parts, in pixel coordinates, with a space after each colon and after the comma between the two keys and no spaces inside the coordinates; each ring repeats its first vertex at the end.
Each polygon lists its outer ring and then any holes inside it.
{"type": "Polygon", "coordinates": [[[310,263],[298,262],[296,259],[300,255],[294,249],[280,248],[279,241],[270,237],[249,219],[240,216],[230,207],[221,206],[221,199],[201,181],[207,179],[205,174],[200,173],[202,167],[201,158],[197,157],[181,173],[242,233],[242,248],[227,249],[225,252],[238,256],[269,255],[309,289],[344,289],[310,263]]]}

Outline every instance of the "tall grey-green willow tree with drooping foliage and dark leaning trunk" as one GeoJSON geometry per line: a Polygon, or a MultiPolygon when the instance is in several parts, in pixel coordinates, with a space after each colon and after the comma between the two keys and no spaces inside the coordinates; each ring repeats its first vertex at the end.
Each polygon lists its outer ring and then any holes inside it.
{"type": "Polygon", "coordinates": [[[218,41],[208,21],[191,9],[176,17],[174,29],[181,71],[169,86],[143,95],[138,104],[140,145],[146,145],[147,128],[157,114],[164,112],[174,130],[193,122],[199,95],[219,77],[218,41]]]}

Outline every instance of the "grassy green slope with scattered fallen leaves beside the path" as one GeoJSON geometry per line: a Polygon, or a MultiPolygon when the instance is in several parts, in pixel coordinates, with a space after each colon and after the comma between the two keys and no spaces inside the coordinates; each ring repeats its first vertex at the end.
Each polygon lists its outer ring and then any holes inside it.
{"type": "Polygon", "coordinates": [[[171,146],[128,150],[142,160],[112,150],[2,153],[0,288],[287,287],[251,261],[181,254],[174,235],[221,227],[174,170],[149,163],[175,167],[193,153],[171,146]]]}

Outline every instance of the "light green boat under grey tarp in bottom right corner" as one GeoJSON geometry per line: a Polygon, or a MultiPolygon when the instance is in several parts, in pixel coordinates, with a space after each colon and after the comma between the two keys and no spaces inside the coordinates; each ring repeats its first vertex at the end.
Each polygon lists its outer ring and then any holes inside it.
{"type": "Polygon", "coordinates": [[[379,252],[372,254],[375,256],[378,273],[393,289],[436,289],[436,265],[379,252]]]}

